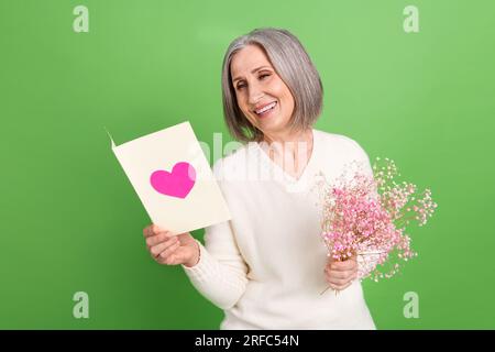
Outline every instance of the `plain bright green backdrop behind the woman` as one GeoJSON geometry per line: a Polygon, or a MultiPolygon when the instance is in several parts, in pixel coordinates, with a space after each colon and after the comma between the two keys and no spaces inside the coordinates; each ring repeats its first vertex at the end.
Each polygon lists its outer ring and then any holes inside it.
{"type": "Polygon", "coordinates": [[[189,120],[200,141],[231,141],[221,63],[260,26],[292,31],[315,62],[317,129],[394,158],[439,204],[410,231],[419,257],[363,283],[377,328],[495,328],[494,11],[490,0],[1,0],[0,328],[218,329],[222,311],[183,270],[150,258],[150,219],[103,127],[120,144],[189,120]],[[73,31],[78,4],[89,33],[73,31]],[[408,4],[419,33],[403,30],[408,4]],[[73,317],[79,290],[89,319],[73,317]],[[407,292],[418,319],[403,315],[407,292]]]}

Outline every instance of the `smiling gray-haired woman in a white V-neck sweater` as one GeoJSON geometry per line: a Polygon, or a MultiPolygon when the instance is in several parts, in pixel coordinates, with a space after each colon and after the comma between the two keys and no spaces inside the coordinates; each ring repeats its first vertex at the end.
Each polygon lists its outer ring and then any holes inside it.
{"type": "Polygon", "coordinates": [[[205,245],[146,227],[152,256],[180,264],[224,310],[220,329],[375,329],[356,279],[360,263],[327,256],[310,187],[318,172],[337,177],[352,161],[371,173],[370,161],[350,138],[314,129],[322,85],[305,48],[279,29],[235,38],[222,91],[227,125],[248,142],[213,166],[232,219],[206,228],[205,245]],[[339,294],[320,295],[327,285],[339,294]]]}

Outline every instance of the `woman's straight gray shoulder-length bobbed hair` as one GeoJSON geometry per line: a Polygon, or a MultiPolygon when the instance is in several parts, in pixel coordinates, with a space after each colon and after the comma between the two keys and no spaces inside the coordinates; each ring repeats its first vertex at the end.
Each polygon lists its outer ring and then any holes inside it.
{"type": "Polygon", "coordinates": [[[323,108],[323,86],[308,53],[299,40],[287,30],[264,28],[235,38],[228,47],[222,65],[223,116],[233,138],[239,141],[261,141],[263,132],[251,124],[239,108],[232,85],[232,57],[248,45],[257,45],[290,90],[295,107],[290,117],[293,130],[306,130],[316,122],[323,108]]]}

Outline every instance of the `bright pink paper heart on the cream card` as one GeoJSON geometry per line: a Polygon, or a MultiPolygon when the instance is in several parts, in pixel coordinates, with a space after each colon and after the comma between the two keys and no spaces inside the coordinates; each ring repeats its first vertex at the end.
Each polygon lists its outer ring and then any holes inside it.
{"type": "Polygon", "coordinates": [[[174,165],[172,173],[158,169],[150,177],[152,187],[160,194],[186,198],[196,182],[196,169],[186,162],[174,165]]]}

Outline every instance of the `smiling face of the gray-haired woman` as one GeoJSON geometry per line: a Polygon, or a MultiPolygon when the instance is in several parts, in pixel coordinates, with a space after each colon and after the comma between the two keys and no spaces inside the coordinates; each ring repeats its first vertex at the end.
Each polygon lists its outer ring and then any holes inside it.
{"type": "Polygon", "coordinates": [[[267,136],[285,131],[294,97],[264,51],[257,45],[245,46],[232,57],[230,70],[239,108],[246,119],[267,136]]]}

